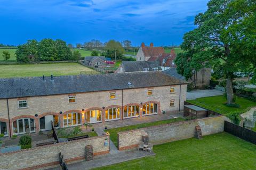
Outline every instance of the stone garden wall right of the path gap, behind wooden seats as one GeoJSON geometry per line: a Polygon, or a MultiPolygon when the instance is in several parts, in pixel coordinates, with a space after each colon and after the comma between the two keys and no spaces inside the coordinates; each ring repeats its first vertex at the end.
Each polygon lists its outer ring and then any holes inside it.
{"type": "Polygon", "coordinates": [[[149,142],[154,145],[193,138],[196,125],[201,126],[202,134],[209,135],[223,132],[225,116],[200,118],[192,121],[151,126],[118,133],[118,149],[125,150],[138,147],[142,135],[147,134],[149,142]]]}

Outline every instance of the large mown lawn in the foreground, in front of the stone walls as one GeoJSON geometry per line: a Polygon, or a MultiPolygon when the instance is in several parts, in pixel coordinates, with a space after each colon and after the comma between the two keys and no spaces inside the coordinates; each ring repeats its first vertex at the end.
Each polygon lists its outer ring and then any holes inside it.
{"type": "Polygon", "coordinates": [[[97,169],[255,169],[256,146],[226,132],[154,146],[155,156],[97,169]]]}

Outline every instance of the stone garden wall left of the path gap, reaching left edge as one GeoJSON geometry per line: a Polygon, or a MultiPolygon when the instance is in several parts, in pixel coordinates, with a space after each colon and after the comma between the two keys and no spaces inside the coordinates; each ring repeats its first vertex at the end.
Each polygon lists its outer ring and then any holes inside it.
{"type": "Polygon", "coordinates": [[[109,136],[92,137],[54,145],[24,149],[7,154],[0,154],[0,169],[43,169],[59,164],[59,152],[64,155],[66,163],[85,159],[85,146],[93,146],[93,155],[109,153],[109,145],[104,146],[109,136]]]}

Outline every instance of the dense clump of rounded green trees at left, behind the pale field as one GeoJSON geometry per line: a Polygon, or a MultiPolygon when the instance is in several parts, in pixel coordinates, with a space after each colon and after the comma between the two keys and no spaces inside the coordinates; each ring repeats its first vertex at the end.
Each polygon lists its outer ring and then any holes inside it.
{"type": "Polygon", "coordinates": [[[81,57],[78,51],[72,53],[66,42],[60,39],[28,40],[18,46],[15,54],[18,62],[70,61],[81,57]]]}

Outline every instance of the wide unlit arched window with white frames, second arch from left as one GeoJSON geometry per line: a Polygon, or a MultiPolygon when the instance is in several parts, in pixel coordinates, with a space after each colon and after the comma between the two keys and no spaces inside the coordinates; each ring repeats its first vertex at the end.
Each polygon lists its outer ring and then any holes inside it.
{"type": "Polygon", "coordinates": [[[35,132],[35,121],[33,118],[21,118],[12,122],[13,134],[24,134],[35,132]]]}

